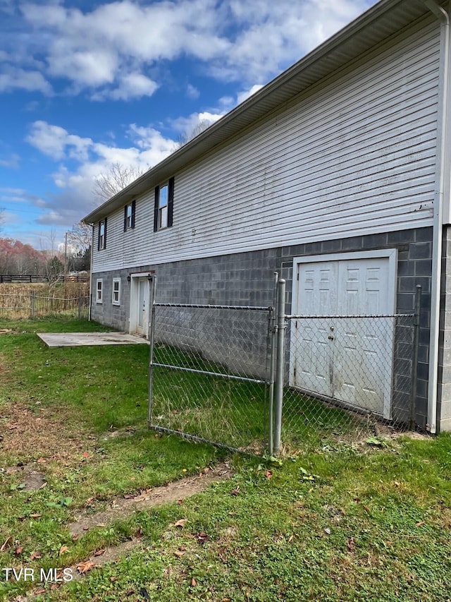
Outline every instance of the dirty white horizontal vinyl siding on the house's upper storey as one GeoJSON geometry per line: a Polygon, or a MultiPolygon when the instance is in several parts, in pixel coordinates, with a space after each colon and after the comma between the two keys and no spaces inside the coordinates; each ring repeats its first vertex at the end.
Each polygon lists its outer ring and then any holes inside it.
{"type": "Polygon", "coordinates": [[[109,216],[93,270],[430,226],[439,45],[427,25],[173,174],[170,229],[149,189],[132,236],[109,216]]]}

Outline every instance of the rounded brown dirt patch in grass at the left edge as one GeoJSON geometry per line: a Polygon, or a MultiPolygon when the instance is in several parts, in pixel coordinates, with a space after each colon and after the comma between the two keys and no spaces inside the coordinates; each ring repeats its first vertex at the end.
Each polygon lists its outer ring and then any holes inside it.
{"type": "Polygon", "coordinates": [[[1,409],[0,445],[13,456],[44,464],[58,460],[65,465],[79,462],[80,450],[86,445],[73,437],[54,411],[37,407],[31,411],[23,404],[11,404],[1,409]]]}

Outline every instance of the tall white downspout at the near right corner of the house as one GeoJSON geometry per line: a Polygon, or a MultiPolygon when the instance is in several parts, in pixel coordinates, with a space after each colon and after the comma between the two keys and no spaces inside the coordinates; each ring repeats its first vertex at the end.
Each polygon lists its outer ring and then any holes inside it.
{"type": "Polygon", "coordinates": [[[440,285],[442,279],[442,243],[443,243],[443,202],[445,197],[445,161],[447,136],[447,100],[449,85],[450,55],[450,16],[435,0],[423,0],[429,10],[440,20],[442,39],[440,40],[440,77],[438,88],[437,131],[439,153],[437,157],[438,189],[434,194],[433,241],[432,241],[432,277],[431,277],[431,334],[429,339],[428,373],[428,421],[426,428],[430,433],[437,431],[437,393],[438,393],[438,352],[440,334],[440,285]]]}

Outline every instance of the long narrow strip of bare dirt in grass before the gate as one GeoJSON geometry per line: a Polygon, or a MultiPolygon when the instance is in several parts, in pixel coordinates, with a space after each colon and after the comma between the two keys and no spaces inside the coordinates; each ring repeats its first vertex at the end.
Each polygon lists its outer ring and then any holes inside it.
{"type": "Polygon", "coordinates": [[[168,485],[147,489],[133,498],[116,498],[111,507],[96,514],[80,514],[75,522],[69,525],[73,536],[81,536],[95,526],[108,524],[117,519],[128,517],[132,512],[146,510],[167,502],[190,498],[191,495],[200,493],[215,481],[224,481],[231,476],[230,466],[227,463],[218,464],[214,469],[204,469],[197,476],[181,478],[168,485]]]}

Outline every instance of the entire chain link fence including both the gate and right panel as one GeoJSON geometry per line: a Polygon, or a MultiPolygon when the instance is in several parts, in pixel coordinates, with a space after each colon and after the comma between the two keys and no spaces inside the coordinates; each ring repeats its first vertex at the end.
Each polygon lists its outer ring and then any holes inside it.
{"type": "Polygon", "coordinates": [[[283,280],[275,308],[158,303],[152,282],[150,428],[278,454],[414,427],[419,313],[286,315],[283,280]]]}

